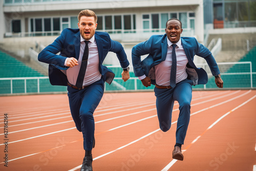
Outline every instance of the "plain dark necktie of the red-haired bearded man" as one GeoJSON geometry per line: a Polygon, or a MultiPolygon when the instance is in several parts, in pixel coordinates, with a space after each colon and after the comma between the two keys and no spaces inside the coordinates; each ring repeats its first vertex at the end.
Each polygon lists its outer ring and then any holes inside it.
{"type": "Polygon", "coordinates": [[[77,76],[76,80],[76,87],[81,88],[83,84],[84,75],[86,75],[86,68],[87,68],[87,62],[88,62],[88,56],[89,56],[89,41],[85,40],[86,47],[84,48],[83,55],[82,55],[82,62],[81,67],[77,76]]]}

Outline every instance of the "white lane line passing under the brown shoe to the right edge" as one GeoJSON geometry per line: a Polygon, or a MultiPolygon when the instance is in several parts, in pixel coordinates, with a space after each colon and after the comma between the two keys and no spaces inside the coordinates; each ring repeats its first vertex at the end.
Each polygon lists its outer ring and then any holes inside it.
{"type": "MultiPolygon", "coordinates": [[[[224,117],[226,117],[227,115],[229,115],[230,113],[232,113],[233,111],[236,111],[237,109],[241,108],[243,105],[245,105],[246,103],[248,103],[249,101],[251,101],[252,99],[254,99],[256,97],[256,95],[254,95],[253,97],[251,97],[250,99],[246,100],[245,102],[243,102],[242,104],[238,105],[236,108],[232,109],[231,111],[227,112],[226,114],[222,115],[219,119],[217,119],[214,123],[212,123],[200,136],[198,136],[195,140],[193,140],[186,148],[185,151],[192,145],[194,144],[200,137],[202,137],[202,135],[204,135],[208,130],[210,130],[214,125],[216,125],[219,121],[221,121],[224,117]]],[[[256,147],[255,147],[256,148],[256,147]]],[[[184,151],[184,152],[185,152],[184,151]]],[[[161,171],[167,171],[170,167],[172,167],[174,165],[174,163],[176,162],[176,159],[173,159],[169,164],[167,164],[161,171]]]]}

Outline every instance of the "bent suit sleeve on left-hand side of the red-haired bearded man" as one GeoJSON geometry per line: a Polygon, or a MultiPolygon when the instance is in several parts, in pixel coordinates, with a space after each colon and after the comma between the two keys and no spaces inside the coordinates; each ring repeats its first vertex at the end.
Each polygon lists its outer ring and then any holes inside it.
{"type": "Polygon", "coordinates": [[[61,70],[68,69],[68,67],[64,66],[66,57],[56,55],[63,48],[63,42],[65,42],[66,31],[67,30],[63,30],[60,36],[57,37],[51,45],[47,46],[38,54],[39,61],[52,64],[56,68],[61,70]]]}

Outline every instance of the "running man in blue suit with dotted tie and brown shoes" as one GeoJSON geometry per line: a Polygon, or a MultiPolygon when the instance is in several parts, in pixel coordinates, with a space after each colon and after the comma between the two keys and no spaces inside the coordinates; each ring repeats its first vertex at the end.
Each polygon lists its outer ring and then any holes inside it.
{"type": "Polygon", "coordinates": [[[177,160],[184,158],[181,145],[184,144],[190,118],[192,86],[208,81],[207,73],[195,66],[195,55],[207,61],[217,87],[223,88],[220,70],[211,52],[194,37],[180,37],[182,31],[180,20],[171,18],[166,22],[166,34],[153,35],[132,50],[135,76],[145,87],[155,85],[157,115],[163,132],[170,129],[174,101],[179,102],[180,114],[173,150],[173,158],[177,160]],[[141,61],[141,55],[146,54],[148,56],[141,61]]]}

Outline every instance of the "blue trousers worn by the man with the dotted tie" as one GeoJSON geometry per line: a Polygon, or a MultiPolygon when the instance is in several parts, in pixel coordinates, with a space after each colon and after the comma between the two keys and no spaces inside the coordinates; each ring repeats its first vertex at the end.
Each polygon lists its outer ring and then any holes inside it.
{"type": "Polygon", "coordinates": [[[190,119],[190,102],[192,99],[193,81],[185,79],[176,84],[173,89],[158,89],[155,87],[157,116],[160,129],[166,132],[172,124],[174,101],[179,102],[179,118],[176,130],[176,143],[184,144],[190,119]]]}

